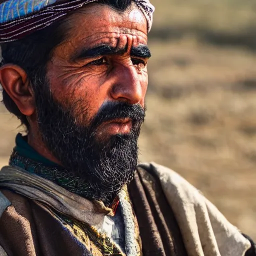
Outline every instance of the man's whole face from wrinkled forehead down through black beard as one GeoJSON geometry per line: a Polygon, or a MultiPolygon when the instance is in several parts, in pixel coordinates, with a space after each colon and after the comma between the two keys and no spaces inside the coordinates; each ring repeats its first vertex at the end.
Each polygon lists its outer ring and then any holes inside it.
{"type": "Polygon", "coordinates": [[[35,93],[38,127],[52,154],[88,185],[88,197],[108,203],[137,164],[147,23],[136,7],[118,13],[91,4],[65,25],[67,39],[53,50],[46,84],[35,93]]]}

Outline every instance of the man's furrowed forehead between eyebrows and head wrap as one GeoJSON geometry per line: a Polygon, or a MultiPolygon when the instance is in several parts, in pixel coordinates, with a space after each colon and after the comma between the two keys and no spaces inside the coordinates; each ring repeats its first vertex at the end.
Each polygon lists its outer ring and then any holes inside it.
{"type": "Polygon", "coordinates": [[[120,34],[132,35],[137,44],[147,43],[147,21],[134,4],[123,12],[105,4],[88,4],[70,15],[65,25],[68,33],[67,40],[59,47],[62,53],[67,50],[64,45],[69,45],[68,51],[102,43],[114,47],[120,34]]]}

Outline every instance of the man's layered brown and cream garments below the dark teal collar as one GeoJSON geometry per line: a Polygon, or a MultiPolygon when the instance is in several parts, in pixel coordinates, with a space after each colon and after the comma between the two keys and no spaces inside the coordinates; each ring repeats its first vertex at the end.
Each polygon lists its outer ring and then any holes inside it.
{"type": "MultiPolygon", "coordinates": [[[[23,167],[28,169],[30,161],[23,159],[23,167]]],[[[134,179],[118,197],[114,215],[102,203],[89,201],[31,170],[3,167],[0,252],[9,256],[256,256],[247,236],[164,166],[139,164],[134,179]],[[123,248],[118,245],[119,230],[123,248]]]]}

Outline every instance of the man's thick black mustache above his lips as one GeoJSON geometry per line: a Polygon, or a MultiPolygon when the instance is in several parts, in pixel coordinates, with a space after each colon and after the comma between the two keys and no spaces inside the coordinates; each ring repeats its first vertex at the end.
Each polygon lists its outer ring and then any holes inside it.
{"type": "Polygon", "coordinates": [[[107,101],[102,104],[91,121],[91,127],[98,127],[103,122],[114,119],[130,118],[132,123],[142,123],[145,118],[145,110],[140,104],[127,102],[107,101]]]}

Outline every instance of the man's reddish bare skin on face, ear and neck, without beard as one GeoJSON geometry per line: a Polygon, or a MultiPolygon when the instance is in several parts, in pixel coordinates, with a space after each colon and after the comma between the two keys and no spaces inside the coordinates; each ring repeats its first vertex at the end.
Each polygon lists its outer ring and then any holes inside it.
{"type": "MultiPolygon", "coordinates": [[[[47,65],[47,78],[53,97],[63,106],[76,103],[77,122],[87,124],[105,101],[121,100],[144,107],[146,93],[146,57],[131,56],[131,47],[147,44],[147,22],[135,6],[118,13],[106,5],[89,4],[68,19],[68,35],[58,45],[47,65]],[[121,54],[75,58],[80,51],[98,45],[109,45],[121,54]],[[97,60],[97,63],[91,61],[97,60]],[[89,119],[79,114],[86,108],[89,119]]],[[[33,92],[26,73],[7,64],[0,69],[0,82],[19,110],[28,117],[28,143],[42,156],[61,164],[40,139],[33,92]]],[[[127,133],[130,122],[105,123],[97,131],[98,138],[117,132],[127,133]]]]}

